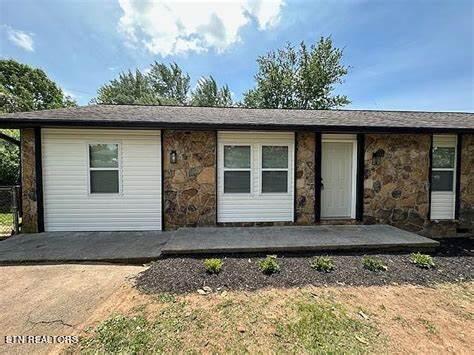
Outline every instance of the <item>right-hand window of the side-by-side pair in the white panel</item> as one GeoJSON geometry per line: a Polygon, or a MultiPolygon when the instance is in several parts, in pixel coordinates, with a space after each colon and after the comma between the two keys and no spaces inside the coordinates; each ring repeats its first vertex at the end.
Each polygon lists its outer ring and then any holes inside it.
{"type": "Polygon", "coordinates": [[[261,193],[288,193],[289,146],[262,145],[261,193]]]}

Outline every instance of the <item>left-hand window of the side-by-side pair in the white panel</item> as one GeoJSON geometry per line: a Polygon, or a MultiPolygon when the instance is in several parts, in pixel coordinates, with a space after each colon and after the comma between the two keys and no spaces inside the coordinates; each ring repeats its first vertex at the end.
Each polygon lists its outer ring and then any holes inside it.
{"type": "Polygon", "coordinates": [[[224,193],[252,192],[252,147],[224,145],[224,193]]]}

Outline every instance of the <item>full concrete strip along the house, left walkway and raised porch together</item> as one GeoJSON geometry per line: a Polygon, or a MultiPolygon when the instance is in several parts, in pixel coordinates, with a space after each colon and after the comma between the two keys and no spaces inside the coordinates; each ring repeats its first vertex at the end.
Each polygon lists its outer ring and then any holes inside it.
{"type": "Polygon", "coordinates": [[[0,264],[145,263],[162,254],[413,250],[438,242],[387,225],[182,228],[169,232],[48,232],[0,242],[0,264]]]}

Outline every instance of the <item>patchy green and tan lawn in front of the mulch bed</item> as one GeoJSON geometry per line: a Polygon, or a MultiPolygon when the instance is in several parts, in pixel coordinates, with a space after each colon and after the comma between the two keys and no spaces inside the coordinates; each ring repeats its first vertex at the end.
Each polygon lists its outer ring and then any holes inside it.
{"type": "Polygon", "coordinates": [[[473,295],[473,282],[205,296],[126,287],[65,353],[467,354],[473,295]]]}

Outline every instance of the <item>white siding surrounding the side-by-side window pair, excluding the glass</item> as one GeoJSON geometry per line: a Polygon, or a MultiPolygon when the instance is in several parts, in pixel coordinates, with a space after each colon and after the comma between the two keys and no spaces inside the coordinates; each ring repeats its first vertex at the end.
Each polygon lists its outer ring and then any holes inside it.
{"type": "MultiPolygon", "coordinates": [[[[219,132],[218,133],[218,222],[290,222],[294,209],[294,133],[219,132]],[[250,193],[224,193],[224,146],[251,147],[250,193]],[[288,147],[288,191],[262,192],[262,146],[288,147]]],[[[278,170],[278,169],[268,169],[278,170]]],[[[286,169],[285,169],[286,171],[286,169]]]]}

